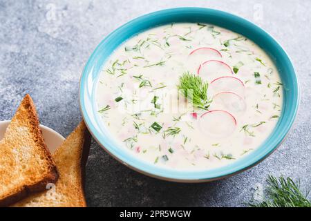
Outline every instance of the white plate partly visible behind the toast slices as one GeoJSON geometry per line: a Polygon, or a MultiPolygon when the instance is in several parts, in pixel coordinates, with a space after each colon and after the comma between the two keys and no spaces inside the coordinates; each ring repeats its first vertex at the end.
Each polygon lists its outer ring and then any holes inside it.
{"type": "MultiPolygon", "coordinates": [[[[10,120],[0,122],[0,140],[3,138],[8,124],[10,124],[10,120]]],[[[40,128],[42,130],[46,146],[48,146],[50,153],[54,153],[57,147],[60,146],[62,142],[64,142],[65,138],[56,131],[53,131],[51,128],[48,128],[47,126],[40,125],[40,128]]]]}

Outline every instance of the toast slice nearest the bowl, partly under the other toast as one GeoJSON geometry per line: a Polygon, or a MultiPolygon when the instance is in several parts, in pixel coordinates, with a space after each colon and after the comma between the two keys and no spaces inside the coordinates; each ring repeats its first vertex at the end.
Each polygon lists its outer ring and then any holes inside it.
{"type": "Polygon", "coordinates": [[[31,195],[13,206],[85,207],[84,169],[90,143],[91,135],[84,122],[81,122],[53,155],[59,171],[59,180],[55,186],[51,186],[44,193],[31,195]]]}

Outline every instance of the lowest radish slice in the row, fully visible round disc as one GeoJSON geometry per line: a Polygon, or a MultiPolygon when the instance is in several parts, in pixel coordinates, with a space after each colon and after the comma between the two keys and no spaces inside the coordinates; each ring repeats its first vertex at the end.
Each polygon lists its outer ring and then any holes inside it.
{"type": "Polygon", "coordinates": [[[227,111],[207,111],[201,115],[199,126],[202,133],[211,137],[227,137],[236,129],[236,119],[227,111]]]}

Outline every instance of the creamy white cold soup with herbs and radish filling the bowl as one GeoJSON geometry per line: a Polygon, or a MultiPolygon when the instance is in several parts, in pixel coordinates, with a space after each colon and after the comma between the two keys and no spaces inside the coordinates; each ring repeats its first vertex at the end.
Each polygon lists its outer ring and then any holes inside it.
{"type": "Polygon", "coordinates": [[[244,157],[272,133],[283,85],[245,37],[205,23],[173,23],[131,37],[104,64],[96,102],[124,151],[176,170],[244,157]]]}

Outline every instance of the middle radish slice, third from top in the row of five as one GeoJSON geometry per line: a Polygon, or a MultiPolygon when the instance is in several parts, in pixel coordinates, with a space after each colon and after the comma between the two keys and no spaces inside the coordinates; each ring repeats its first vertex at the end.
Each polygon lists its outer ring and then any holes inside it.
{"type": "Polygon", "coordinates": [[[236,93],[240,95],[241,97],[244,97],[245,93],[245,86],[243,82],[236,78],[236,77],[231,77],[231,76],[225,76],[225,77],[218,77],[211,81],[211,90],[216,93],[224,92],[224,91],[229,91],[236,93]]]}

